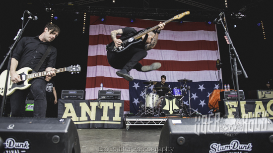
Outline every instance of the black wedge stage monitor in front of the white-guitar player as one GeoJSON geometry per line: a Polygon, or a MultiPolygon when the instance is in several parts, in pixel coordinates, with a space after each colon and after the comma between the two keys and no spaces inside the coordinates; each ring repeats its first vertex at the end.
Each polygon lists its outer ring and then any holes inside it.
{"type": "Polygon", "coordinates": [[[1,117],[0,138],[4,153],[80,153],[70,118],[1,117]]]}

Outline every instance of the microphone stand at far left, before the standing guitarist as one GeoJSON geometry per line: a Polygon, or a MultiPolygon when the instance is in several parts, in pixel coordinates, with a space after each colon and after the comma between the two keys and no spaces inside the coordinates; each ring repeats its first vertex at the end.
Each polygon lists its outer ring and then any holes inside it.
{"type": "Polygon", "coordinates": [[[11,54],[12,54],[12,51],[13,51],[13,47],[16,46],[16,44],[18,43],[19,39],[21,38],[22,36],[22,33],[24,32],[25,30],[25,27],[27,25],[27,23],[29,22],[29,20],[31,20],[32,17],[29,16],[28,17],[28,20],[25,24],[25,26],[22,28],[21,32],[19,31],[17,33],[17,36],[14,38],[15,42],[10,46],[9,48],[9,51],[7,52],[4,60],[2,61],[1,65],[0,65],[0,69],[2,69],[3,65],[4,65],[4,62],[6,60],[6,58],[9,56],[9,59],[8,59],[8,64],[7,64],[7,72],[6,72],[6,79],[5,79],[5,86],[4,86],[4,93],[3,93],[3,99],[2,99],[2,103],[1,103],[1,108],[0,108],[0,117],[3,116],[3,111],[4,111],[4,105],[6,103],[6,92],[7,92],[7,83],[8,83],[8,76],[9,76],[9,71],[10,71],[10,65],[11,65],[11,54]]]}

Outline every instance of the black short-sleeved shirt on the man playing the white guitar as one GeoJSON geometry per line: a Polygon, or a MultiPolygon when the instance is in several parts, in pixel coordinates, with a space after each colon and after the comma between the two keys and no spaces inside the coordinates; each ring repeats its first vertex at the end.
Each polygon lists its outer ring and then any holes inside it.
{"type": "MultiPolygon", "coordinates": [[[[18,42],[12,54],[12,58],[18,60],[16,70],[19,70],[23,67],[30,67],[31,69],[34,69],[49,46],[49,43],[40,41],[38,36],[23,37],[18,42]]],[[[55,67],[56,58],[57,49],[55,47],[52,47],[51,51],[49,52],[38,72],[45,71],[47,67],[55,67]]]]}

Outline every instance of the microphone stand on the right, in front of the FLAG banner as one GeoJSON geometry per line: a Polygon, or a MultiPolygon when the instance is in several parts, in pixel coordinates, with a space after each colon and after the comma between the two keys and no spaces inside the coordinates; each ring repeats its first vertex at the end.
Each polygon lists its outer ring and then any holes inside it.
{"type": "MultiPolygon", "coordinates": [[[[241,63],[241,61],[240,61],[239,55],[237,54],[237,52],[236,52],[236,50],[235,50],[235,48],[234,48],[234,46],[233,46],[233,43],[232,43],[232,41],[231,41],[231,38],[229,37],[229,34],[228,34],[228,32],[226,31],[226,29],[225,29],[225,26],[224,26],[224,23],[223,23],[222,19],[220,18],[219,21],[221,21],[221,24],[222,24],[222,26],[223,26],[223,28],[224,28],[224,30],[225,30],[225,35],[226,35],[226,37],[227,37],[227,39],[228,39],[228,41],[229,41],[229,43],[230,43],[230,45],[231,45],[231,47],[232,47],[232,50],[234,51],[234,57],[233,57],[233,72],[234,72],[235,81],[236,81],[236,90],[237,90],[239,117],[242,118],[242,115],[241,115],[240,94],[239,94],[239,82],[238,82],[238,69],[237,69],[237,61],[236,61],[236,60],[238,60],[240,66],[241,66],[241,68],[242,68],[242,72],[243,72],[245,78],[248,78],[248,76],[247,76],[246,71],[245,71],[245,69],[244,69],[244,67],[243,67],[243,65],[242,65],[242,63],[241,63]]],[[[230,53],[229,55],[230,55],[230,57],[232,58],[232,54],[230,53]]]]}

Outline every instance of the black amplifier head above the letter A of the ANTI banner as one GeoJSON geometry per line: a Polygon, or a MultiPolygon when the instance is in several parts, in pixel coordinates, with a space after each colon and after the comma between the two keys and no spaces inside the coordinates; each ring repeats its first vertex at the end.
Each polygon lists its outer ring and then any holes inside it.
{"type": "Polygon", "coordinates": [[[84,100],[84,90],[62,90],[62,99],[84,100]]]}

